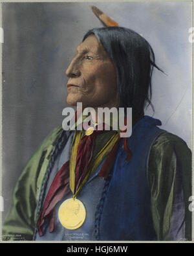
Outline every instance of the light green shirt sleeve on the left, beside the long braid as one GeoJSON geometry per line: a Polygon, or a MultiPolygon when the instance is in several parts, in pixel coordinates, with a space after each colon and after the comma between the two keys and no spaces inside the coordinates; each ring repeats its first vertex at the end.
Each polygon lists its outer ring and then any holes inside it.
{"type": "Polygon", "coordinates": [[[5,218],[2,240],[32,240],[36,227],[36,209],[50,154],[61,128],[56,128],[34,152],[21,173],[5,218]]]}

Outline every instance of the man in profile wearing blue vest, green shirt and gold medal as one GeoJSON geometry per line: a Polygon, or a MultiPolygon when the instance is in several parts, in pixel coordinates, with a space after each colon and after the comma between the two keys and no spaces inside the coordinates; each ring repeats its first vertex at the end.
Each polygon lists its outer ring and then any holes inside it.
{"type": "Polygon", "coordinates": [[[158,119],[144,115],[153,68],[151,46],[133,30],[87,32],[66,71],[67,104],[132,108],[132,135],[98,127],[90,135],[54,130],[17,182],[5,239],[191,239],[191,152],[177,135],[158,128],[158,119]],[[80,224],[63,217],[62,210],[72,216],[69,209],[77,209],[80,224]]]}

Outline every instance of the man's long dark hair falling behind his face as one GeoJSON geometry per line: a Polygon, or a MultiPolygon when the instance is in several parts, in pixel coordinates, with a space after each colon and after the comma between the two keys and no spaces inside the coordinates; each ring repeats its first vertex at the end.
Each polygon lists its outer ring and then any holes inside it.
{"type": "Polygon", "coordinates": [[[91,29],[83,41],[91,34],[102,43],[116,69],[120,107],[133,108],[133,117],[140,119],[151,104],[153,67],[159,69],[153,49],[142,36],[124,27],[91,29]]]}

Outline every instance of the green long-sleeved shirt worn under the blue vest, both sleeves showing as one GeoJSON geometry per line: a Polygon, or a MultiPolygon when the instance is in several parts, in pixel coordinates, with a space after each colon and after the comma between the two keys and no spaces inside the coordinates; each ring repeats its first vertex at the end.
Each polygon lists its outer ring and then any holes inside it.
{"type": "MultiPolygon", "coordinates": [[[[32,240],[41,184],[61,131],[61,127],[56,128],[48,135],[17,181],[12,205],[3,226],[3,240],[32,240]]],[[[108,141],[111,133],[98,135],[94,154],[108,141]]],[[[149,156],[147,181],[151,189],[151,213],[158,240],[172,240],[171,220],[176,218],[175,196],[180,187],[184,195],[186,239],[190,240],[191,212],[188,211],[188,198],[191,196],[191,151],[182,139],[169,133],[157,137],[149,156]],[[179,185],[180,180],[182,183],[179,185]]]]}

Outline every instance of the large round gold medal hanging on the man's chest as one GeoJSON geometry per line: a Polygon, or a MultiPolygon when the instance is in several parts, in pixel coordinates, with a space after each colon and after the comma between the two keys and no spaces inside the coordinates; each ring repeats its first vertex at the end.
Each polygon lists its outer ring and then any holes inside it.
{"type": "Polygon", "coordinates": [[[61,225],[67,229],[78,229],[85,221],[85,216],[85,207],[83,203],[76,198],[65,200],[59,207],[59,221],[61,225]]]}

